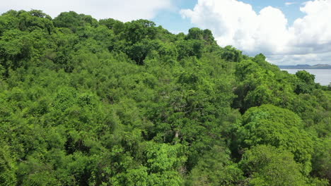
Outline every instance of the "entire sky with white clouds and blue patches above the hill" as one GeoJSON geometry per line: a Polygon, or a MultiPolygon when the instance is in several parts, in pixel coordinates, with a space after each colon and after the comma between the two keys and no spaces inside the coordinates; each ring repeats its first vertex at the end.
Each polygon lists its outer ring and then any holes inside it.
{"type": "Polygon", "coordinates": [[[278,65],[331,65],[331,0],[11,0],[0,13],[76,11],[123,22],[148,19],[170,32],[209,29],[220,46],[263,53],[278,65]]]}

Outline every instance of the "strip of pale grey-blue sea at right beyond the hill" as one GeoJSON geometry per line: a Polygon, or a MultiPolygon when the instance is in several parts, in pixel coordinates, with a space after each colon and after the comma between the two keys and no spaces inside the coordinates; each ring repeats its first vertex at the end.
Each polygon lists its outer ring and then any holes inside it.
{"type": "Polygon", "coordinates": [[[286,70],[291,74],[295,74],[298,70],[306,70],[308,73],[315,75],[315,82],[320,85],[329,85],[331,82],[331,69],[281,69],[286,70]]]}

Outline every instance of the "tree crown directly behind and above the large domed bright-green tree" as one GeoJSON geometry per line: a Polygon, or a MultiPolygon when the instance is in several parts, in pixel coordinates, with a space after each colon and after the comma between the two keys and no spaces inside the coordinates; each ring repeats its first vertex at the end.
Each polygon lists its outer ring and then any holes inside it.
{"type": "Polygon", "coordinates": [[[291,104],[295,102],[296,79],[264,59],[260,54],[236,66],[238,86],[234,92],[238,97],[233,101],[233,107],[240,109],[241,113],[262,104],[291,109],[291,104]]]}

